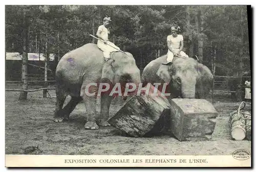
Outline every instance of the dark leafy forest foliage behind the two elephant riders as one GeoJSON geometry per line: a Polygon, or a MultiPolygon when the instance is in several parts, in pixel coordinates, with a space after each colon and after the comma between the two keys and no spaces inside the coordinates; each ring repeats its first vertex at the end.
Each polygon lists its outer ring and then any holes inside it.
{"type": "Polygon", "coordinates": [[[110,39],[131,52],[141,70],[156,56],[167,53],[170,27],[179,25],[186,52],[192,46],[193,53],[198,54],[198,40],[202,38],[203,63],[210,69],[216,50],[216,75],[241,72],[241,63],[250,71],[246,6],[6,6],[7,52],[23,50],[24,10],[30,18],[30,52],[44,53],[47,42],[48,52],[61,57],[92,42],[89,34],[96,35],[102,18],[110,16],[110,39]]]}

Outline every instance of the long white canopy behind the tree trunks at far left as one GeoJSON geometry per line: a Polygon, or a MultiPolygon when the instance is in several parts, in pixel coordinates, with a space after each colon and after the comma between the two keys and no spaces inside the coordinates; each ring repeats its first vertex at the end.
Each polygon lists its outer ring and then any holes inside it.
{"type": "MultiPolygon", "coordinates": [[[[54,61],[55,54],[49,54],[50,61],[54,61]]],[[[8,53],[6,52],[6,60],[22,60],[22,55],[19,53],[8,53]]],[[[28,60],[30,61],[39,61],[39,53],[28,53],[28,60]]],[[[40,61],[45,61],[44,54],[40,53],[40,61]]]]}

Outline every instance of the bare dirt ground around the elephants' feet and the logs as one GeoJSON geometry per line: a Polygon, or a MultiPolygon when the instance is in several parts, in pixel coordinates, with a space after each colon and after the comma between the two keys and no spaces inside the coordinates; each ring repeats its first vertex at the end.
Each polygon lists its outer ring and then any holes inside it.
{"type": "MultiPolygon", "coordinates": [[[[15,86],[8,86],[15,88],[15,86]]],[[[36,88],[36,87],[33,87],[36,88]]],[[[40,88],[40,87],[39,87],[40,88]]],[[[7,89],[7,88],[6,88],[7,89]]],[[[32,89],[32,88],[29,88],[32,89]]],[[[100,127],[85,130],[86,110],[79,103],[70,115],[70,121],[52,121],[55,110],[55,90],[52,98],[42,98],[42,91],[28,94],[28,100],[18,101],[19,92],[5,92],[6,154],[49,155],[232,155],[234,150],[251,152],[251,141],[231,140],[229,114],[237,110],[240,102],[232,102],[228,94],[215,95],[213,104],[218,112],[215,131],[209,141],[182,141],[170,136],[133,138],[121,135],[116,128],[100,127]],[[39,150],[28,151],[29,146],[39,150]]],[[[69,98],[67,98],[65,104],[69,98]]],[[[211,99],[207,99],[211,102],[211,99]]],[[[113,100],[110,116],[124,101],[113,100]]],[[[250,104],[245,107],[250,112],[250,104]]],[[[97,109],[99,113],[99,108],[97,109]]]]}

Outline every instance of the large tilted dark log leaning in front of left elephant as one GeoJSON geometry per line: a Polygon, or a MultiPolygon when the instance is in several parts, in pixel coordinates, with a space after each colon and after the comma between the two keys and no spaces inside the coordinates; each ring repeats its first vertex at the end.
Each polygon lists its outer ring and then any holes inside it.
{"type": "Polygon", "coordinates": [[[165,96],[151,85],[148,95],[133,96],[108,122],[131,137],[148,137],[160,133],[170,121],[170,104],[165,96]]]}

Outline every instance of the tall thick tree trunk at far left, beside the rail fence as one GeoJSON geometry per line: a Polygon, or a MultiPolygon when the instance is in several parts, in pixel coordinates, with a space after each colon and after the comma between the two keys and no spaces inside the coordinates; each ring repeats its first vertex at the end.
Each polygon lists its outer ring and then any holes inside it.
{"type": "MultiPolygon", "coordinates": [[[[24,11],[23,25],[23,57],[22,57],[22,89],[28,90],[28,21],[27,12],[24,11]]],[[[20,92],[19,100],[26,100],[28,92],[20,92]]]]}

